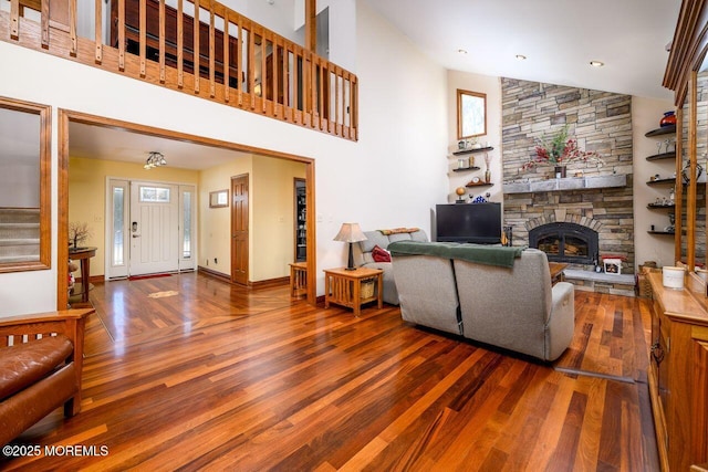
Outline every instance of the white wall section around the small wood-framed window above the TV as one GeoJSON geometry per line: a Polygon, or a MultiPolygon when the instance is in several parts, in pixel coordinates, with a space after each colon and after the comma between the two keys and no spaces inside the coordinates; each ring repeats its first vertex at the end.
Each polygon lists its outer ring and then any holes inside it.
{"type": "Polygon", "coordinates": [[[485,156],[483,153],[470,154],[466,157],[475,157],[475,166],[480,170],[455,172],[457,167],[457,158],[452,151],[457,149],[457,90],[466,90],[470,92],[479,92],[487,94],[487,134],[478,136],[477,140],[482,145],[489,145],[494,150],[489,153],[491,158],[489,168],[491,171],[491,182],[493,187],[472,187],[467,188],[466,198],[469,201],[469,195],[475,197],[491,193],[490,201],[503,203],[503,171],[501,165],[501,81],[499,77],[490,75],[471,74],[467,72],[449,71],[447,74],[447,117],[448,117],[448,161],[447,175],[449,176],[447,202],[451,203],[457,199],[455,189],[465,187],[472,177],[485,178],[485,156]]]}

